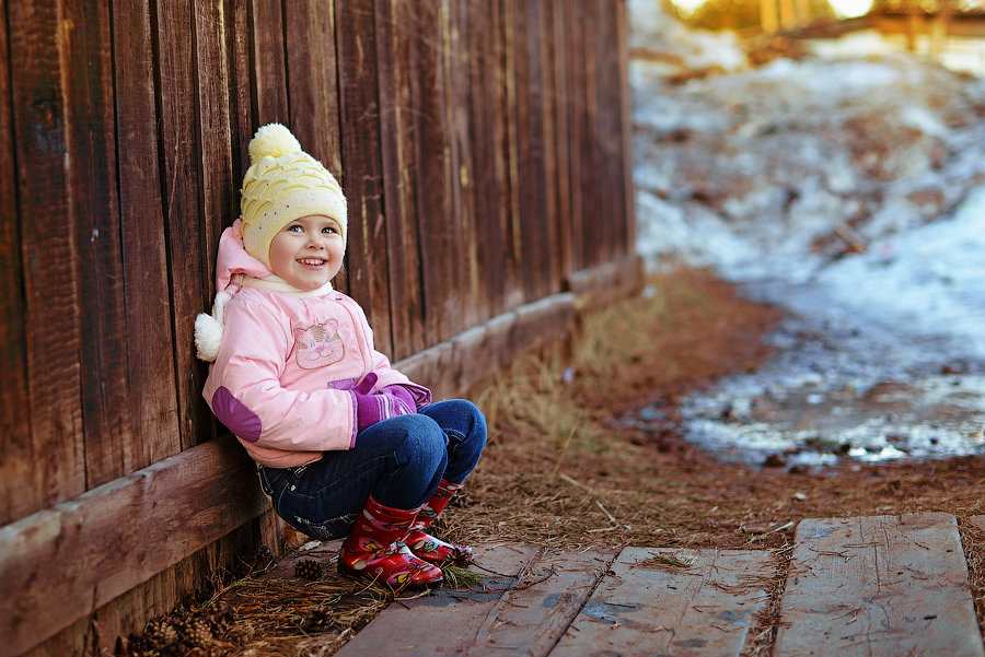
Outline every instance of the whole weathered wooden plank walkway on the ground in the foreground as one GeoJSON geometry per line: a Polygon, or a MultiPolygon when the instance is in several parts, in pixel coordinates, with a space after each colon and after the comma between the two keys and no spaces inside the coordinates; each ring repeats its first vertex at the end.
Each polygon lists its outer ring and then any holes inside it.
{"type": "MultiPolygon", "coordinates": [[[[337,655],[738,657],[780,561],[761,550],[510,544],[477,554],[482,585],[398,600],[337,655]]],[[[948,514],[801,521],[779,614],[773,657],[985,657],[948,514]]]]}

